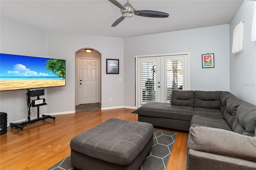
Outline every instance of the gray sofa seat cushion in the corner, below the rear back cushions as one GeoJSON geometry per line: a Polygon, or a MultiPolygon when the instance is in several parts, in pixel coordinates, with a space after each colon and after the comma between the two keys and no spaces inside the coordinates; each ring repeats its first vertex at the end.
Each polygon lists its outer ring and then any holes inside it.
{"type": "Polygon", "coordinates": [[[194,107],[194,115],[223,119],[223,115],[220,112],[220,109],[207,109],[207,108],[194,107]]]}

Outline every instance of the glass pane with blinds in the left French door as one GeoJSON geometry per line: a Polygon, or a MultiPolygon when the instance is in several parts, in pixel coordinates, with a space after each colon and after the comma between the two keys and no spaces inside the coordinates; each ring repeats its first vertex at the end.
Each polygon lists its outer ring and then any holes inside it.
{"type": "Polygon", "coordinates": [[[156,61],[141,62],[141,99],[156,101],[156,61]]]}

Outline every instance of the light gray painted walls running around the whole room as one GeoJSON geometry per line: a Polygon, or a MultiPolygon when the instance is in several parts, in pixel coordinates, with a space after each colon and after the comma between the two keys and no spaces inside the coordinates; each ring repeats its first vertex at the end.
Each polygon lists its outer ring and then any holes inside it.
{"type": "MultiPolygon", "coordinates": [[[[250,41],[253,2],[244,1],[230,24],[125,39],[50,32],[1,18],[1,53],[66,59],[67,84],[46,89],[48,105],[40,107],[40,114],[74,113],[75,52],[85,47],[102,54],[103,109],[134,107],[136,55],[180,52],[190,52],[190,89],[231,91],[256,104],[256,43],[250,41]],[[244,51],[232,55],[232,32],[241,20],[244,51]],[[214,53],[214,68],[202,69],[205,53],[214,53]],[[106,58],[120,59],[119,75],[106,75],[106,58]]],[[[8,123],[26,119],[25,94],[26,90],[0,92],[0,110],[8,113],[8,123]]]]}

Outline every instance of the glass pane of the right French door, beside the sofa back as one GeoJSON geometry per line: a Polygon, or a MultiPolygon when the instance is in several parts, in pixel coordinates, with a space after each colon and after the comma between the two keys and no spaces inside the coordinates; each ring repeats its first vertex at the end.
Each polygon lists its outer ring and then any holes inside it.
{"type": "Polygon", "coordinates": [[[173,59],[166,61],[166,102],[171,102],[172,90],[182,90],[183,60],[173,59]]]}

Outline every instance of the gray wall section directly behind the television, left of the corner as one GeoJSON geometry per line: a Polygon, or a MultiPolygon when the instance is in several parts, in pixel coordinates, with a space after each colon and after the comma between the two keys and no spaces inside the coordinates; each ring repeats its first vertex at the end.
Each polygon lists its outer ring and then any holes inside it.
{"type": "MultiPolygon", "coordinates": [[[[1,53],[46,57],[46,31],[1,18],[1,53]]],[[[0,111],[8,113],[8,123],[26,119],[26,93],[26,90],[0,92],[0,111]]],[[[47,100],[47,96],[44,98],[47,100]]],[[[42,106],[40,114],[46,110],[42,106]]]]}

